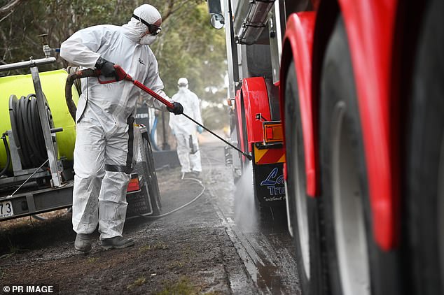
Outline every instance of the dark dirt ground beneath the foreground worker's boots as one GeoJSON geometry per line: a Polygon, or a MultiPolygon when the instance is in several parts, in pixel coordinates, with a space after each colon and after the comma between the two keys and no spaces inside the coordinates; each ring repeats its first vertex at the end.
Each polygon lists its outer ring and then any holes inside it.
{"type": "MultiPolygon", "coordinates": [[[[223,147],[216,151],[223,160],[223,147]]],[[[202,183],[208,186],[214,171],[206,169],[202,183]]],[[[229,170],[217,173],[231,183],[229,170]]],[[[158,171],[162,213],[202,192],[198,182],[180,180],[180,174],[179,168],[158,171]]],[[[167,217],[127,220],[123,234],[135,240],[134,247],[104,251],[96,233],[90,254],[74,250],[67,210],[46,213],[46,221],[1,222],[0,286],[55,285],[60,294],[253,294],[212,198],[207,189],[167,217]]]]}

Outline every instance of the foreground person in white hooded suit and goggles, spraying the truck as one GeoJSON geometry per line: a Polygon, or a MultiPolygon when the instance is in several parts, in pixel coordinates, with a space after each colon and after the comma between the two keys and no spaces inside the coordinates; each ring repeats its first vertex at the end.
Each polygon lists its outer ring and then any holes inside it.
{"type": "MultiPolygon", "coordinates": [[[[158,10],[144,4],[121,27],[104,24],[77,31],[62,43],[60,56],[71,64],[99,69],[102,80],[117,78],[114,64],[119,65],[134,80],[172,101],[162,91],[158,63],[148,46],[155,41],[161,23],[158,10]]],[[[140,95],[146,96],[151,106],[164,110],[165,106],[125,80],[102,85],[91,77],[81,82],[74,149],[72,223],[77,233],[74,247],[88,252],[91,233],[97,224],[102,247],[128,247],[134,241],[123,238],[122,232],[127,210],[126,189],[133,165],[132,115],[140,95]]],[[[180,103],[173,105],[168,110],[181,114],[180,103]]]]}

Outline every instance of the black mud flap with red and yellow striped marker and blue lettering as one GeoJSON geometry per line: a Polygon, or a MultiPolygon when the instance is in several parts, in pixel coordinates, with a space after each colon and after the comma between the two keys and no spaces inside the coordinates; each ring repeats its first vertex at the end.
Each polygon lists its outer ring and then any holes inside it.
{"type": "Polygon", "coordinates": [[[284,161],[282,144],[254,143],[253,178],[256,198],[262,206],[284,206],[284,161]]]}

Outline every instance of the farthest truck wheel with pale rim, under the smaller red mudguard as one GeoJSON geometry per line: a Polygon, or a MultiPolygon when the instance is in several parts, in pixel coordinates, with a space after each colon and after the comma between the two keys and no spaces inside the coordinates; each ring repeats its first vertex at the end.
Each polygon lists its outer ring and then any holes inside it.
{"type": "Polygon", "coordinates": [[[303,294],[319,294],[321,247],[317,199],[307,196],[298,82],[292,61],[285,84],[286,201],[303,294]]]}

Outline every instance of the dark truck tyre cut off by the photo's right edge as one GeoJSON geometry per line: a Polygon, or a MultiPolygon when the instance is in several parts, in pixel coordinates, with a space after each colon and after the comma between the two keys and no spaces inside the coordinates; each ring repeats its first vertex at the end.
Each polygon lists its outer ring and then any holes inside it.
{"type": "Polygon", "coordinates": [[[406,124],[406,237],[414,294],[444,294],[444,2],[424,10],[406,124]]]}

